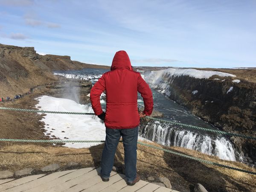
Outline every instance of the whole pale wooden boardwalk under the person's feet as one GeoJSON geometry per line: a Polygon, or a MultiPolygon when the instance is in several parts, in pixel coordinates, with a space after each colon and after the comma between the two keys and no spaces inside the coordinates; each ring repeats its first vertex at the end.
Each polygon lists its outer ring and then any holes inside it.
{"type": "Polygon", "coordinates": [[[20,179],[0,180],[2,192],[177,192],[140,180],[127,186],[125,175],[111,172],[108,182],[99,176],[100,168],[74,169],[50,175],[31,175],[20,179]]]}

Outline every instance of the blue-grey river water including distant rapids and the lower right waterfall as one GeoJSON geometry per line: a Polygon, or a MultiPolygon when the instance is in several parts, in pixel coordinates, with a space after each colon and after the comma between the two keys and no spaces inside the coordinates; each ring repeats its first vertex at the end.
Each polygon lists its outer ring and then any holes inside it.
{"type": "MultiPolygon", "coordinates": [[[[102,74],[107,71],[108,70],[104,69],[58,70],[54,71],[54,74],[73,79],[88,79],[94,84],[102,74]]],[[[209,123],[192,115],[186,108],[178,105],[164,94],[154,89],[151,90],[153,93],[154,110],[164,114],[164,117],[161,118],[199,127],[216,129],[209,123]]],[[[102,108],[105,108],[105,102],[103,100],[101,101],[102,108]]],[[[143,98],[140,94],[138,94],[138,106],[143,106],[143,98]]],[[[241,159],[230,140],[221,135],[217,136],[204,131],[182,128],[180,126],[152,120],[146,125],[140,126],[140,135],[161,145],[189,148],[204,154],[217,156],[223,160],[236,161],[241,159]]]]}

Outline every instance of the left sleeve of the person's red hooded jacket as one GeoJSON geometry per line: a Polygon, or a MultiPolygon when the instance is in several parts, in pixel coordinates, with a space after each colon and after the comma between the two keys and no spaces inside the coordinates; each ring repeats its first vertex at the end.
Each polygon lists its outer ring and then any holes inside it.
{"type": "Polygon", "coordinates": [[[100,115],[103,113],[102,107],[100,105],[100,95],[105,91],[105,76],[102,77],[94,84],[90,91],[90,102],[92,104],[93,111],[95,115],[100,115]]]}

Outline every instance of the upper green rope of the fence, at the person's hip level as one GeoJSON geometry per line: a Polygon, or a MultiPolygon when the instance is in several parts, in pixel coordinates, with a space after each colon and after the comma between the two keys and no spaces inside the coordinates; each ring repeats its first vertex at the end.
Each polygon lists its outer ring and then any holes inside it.
{"type": "MultiPolygon", "coordinates": [[[[11,110],[11,111],[32,112],[32,113],[59,113],[59,114],[73,114],[73,115],[94,115],[94,113],[43,111],[43,110],[34,110],[34,109],[19,109],[19,108],[5,108],[5,107],[0,107],[0,109],[11,110]]],[[[229,133],[229,132],[226,132],[226,131],[219,131],[219,130],[215,130],[215,129],[208,129],[208,128],[203,128],[203,127],[198,127],[198,126],[195,126],[195,125],[188,125],[188,124],[179,123],[179,122],[175,122],[175,121],[158,119],[158,118],[154,118],[154,117],[150,117],[150,116],[146,116],[146,118],[156,120],[156,121],[159,121],[159,122],[163,122],[163,123],[169,123],[169,124],[172,124],[172,125],[180,125],[180,126],[183,126],[183,127],[189,127],[189,128],[193,128],[193,129],[197,129],[197,130],[212,132],[212,133],[215,133],[215,134],[223,134],[223,135],[228,135],[228,136],[243,137],[243,138],[246,138],[246,139],[256,140],[256,137],[247,136],[247,135],[243,135],[243,134],[236,134],[236,133],[229,133]]]]}

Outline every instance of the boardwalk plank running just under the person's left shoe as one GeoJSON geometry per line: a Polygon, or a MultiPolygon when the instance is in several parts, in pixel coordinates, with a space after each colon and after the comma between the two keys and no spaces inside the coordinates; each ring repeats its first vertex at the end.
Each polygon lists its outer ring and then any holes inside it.
{"type": "Polygon", "coordinates": [[[119,180],[123,180],[125,178],[125,175],[123,174],[116,174],[113,175],[112,177],[109,178],[108,182],[99,182],[96,183],[96,185],[90,186],[89,188],[83,190],[83,192],[96,192],[96,191],[100,191],[102,189],[105,189],[106,187],[112,185],[113,183],[118,182],[119,180]]]}

